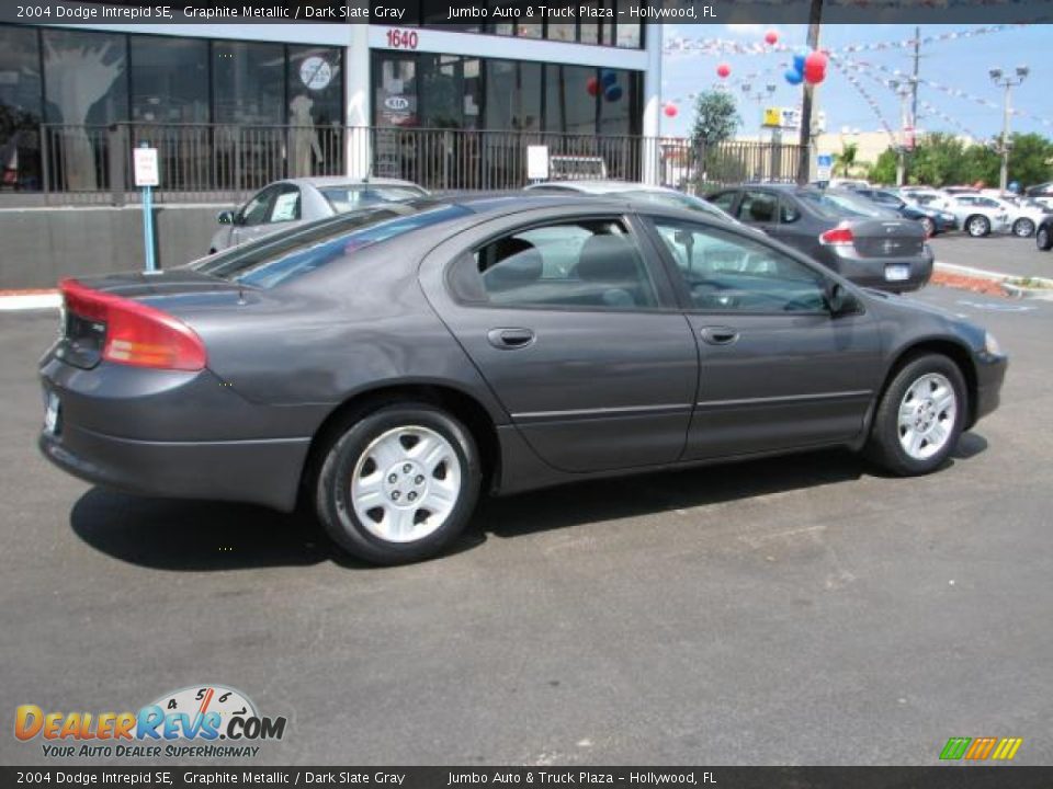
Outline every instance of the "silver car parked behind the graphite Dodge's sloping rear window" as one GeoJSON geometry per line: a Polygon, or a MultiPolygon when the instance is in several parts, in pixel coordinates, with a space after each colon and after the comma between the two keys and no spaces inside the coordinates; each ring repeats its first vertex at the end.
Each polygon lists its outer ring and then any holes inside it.
{"type": "Polygon", "coordinates": [[[219,213],[216,220],[220,227],[212,237],[208,254],[315,219],[427,195],[427,190],[411,181],[397,179],[331,175],[276,181],[240,208],[219,213]]]}

